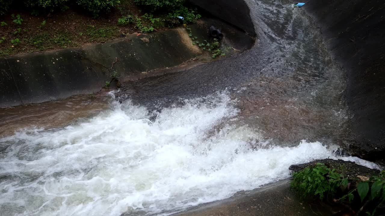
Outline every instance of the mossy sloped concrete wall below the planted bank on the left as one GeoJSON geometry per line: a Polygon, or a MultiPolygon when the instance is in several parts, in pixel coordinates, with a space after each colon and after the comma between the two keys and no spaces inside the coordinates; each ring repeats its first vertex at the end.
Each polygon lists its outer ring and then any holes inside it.
{"type": "Polygon", "coordinates": [[[130,76],[201,55],[184,28],[107,43],[0,58],[0,106],[40,103],[99,91],[112,71],[130,76]],[[187,38],[187,40],[186,40],[187,38]],[[119,61],[112,67],[112,62],[119,61]]]}

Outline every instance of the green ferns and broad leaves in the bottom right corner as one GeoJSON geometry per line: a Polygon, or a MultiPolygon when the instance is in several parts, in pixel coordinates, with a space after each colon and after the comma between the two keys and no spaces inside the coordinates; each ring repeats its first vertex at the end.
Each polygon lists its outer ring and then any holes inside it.
{"type": "Polygon", "coordinates": [[[373,176],[346,174],[346,166],[316,163],[293,173],[291,188],[303,199],[350,205],[355,215],[377,215],[385,201],[385,171],[373,176]]]}

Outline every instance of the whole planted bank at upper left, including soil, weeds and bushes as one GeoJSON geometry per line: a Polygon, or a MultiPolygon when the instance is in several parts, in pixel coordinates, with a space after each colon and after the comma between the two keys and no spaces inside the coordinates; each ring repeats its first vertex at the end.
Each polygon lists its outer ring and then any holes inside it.
{"type": "Polygon", "coordinates": [[[0,8],[0,56],[162,31],[201,17],[182,0],[0,0],[0,8]]]}

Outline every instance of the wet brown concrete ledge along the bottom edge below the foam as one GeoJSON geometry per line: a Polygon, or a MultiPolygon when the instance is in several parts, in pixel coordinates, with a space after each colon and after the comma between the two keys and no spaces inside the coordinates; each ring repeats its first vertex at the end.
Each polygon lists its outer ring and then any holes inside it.
{"type": "Polygon", "coordinates": [[[282,180],[172,216],[327,216],[333,213],[330,206],[300,201],[290,190],[290,180],[282,180]]]}

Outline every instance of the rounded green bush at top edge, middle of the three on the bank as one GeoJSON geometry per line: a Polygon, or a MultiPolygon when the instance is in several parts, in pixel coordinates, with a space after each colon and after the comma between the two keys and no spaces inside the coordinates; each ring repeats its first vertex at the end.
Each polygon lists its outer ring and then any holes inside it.
{"type": "Polygon", "coordinates": [[[101,12],[109,12],[120,0],[77,0],[78,5],[98,17],[101,12]]]}

